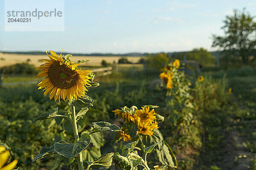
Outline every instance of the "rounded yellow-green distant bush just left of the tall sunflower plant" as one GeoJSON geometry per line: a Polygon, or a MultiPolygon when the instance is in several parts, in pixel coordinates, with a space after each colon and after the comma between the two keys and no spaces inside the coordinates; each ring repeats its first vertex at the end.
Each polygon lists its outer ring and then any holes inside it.
{"type": "Polygon", "coordinates": [[[148,68],[160,69],[167,62],[169,62],[169,58],[166,53],[154,54],[153,56],[149,54],[145,58],[145,64],[148,68]]]}

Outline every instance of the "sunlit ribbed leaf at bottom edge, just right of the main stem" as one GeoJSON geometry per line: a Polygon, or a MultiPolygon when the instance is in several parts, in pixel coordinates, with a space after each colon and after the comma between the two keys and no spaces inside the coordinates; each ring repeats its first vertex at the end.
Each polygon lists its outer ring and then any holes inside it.
{"type": "MultiPolygon", "coordinates": [[[[102,155],[98,159],[96,159],[96,161],[93,161],[92,163],[90,163],[88,166],[94,167],[94,168],[110,167],[112,164],[113,155],[114,153],[107,153],[105,155],[102,155]]],[[[89,167],[87,167],[87,169],[89,169],[89,167]]]]}

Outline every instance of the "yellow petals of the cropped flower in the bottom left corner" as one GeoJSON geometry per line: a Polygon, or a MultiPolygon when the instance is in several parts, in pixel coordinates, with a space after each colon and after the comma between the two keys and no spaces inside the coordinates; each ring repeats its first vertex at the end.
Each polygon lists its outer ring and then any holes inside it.
{"type": "MultiPolygon", "coordinates": [[[[0,150],[3,152],[4,150],[6,150],[6,147],[0,146],[0,150]]],[[[10,156],[9,150],[6,150],[5,152],[0,154],[0,170],[13,170],[17,165],[18,160],[15,159],[11,163],[3,167],[3,165],[6,164],[6,161],[8,160],[9,156],[10,156]]]]}

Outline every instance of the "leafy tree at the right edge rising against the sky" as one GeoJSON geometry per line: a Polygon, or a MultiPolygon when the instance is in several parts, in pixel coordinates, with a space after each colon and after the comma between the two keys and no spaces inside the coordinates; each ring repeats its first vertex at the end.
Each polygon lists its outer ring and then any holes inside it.
{"type": "Polygon", "coordinates": [[[213,35],[212,47],[220,47],[235,56],[242,57],[244,64],[248,64],[249,57],[256,50],[256,22],[249,13],[234,10],[233,16],[226,16],[223,37],[213,35]]]}

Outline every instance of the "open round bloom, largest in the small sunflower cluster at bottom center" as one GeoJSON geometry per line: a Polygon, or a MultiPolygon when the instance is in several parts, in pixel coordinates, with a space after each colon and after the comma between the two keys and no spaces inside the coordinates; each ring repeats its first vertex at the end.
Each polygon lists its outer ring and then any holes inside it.
{"type": "Polygon", "coordinates": [[[156,113],[154,112],[154,109],[152,109],[151,111],[149,111],[149,107],[147,108],[143,108],[142,109],[138,109],[136,110],[136,113],[134,114],[134,116],[138,119],[139,123],[148,123],[148,124],[152,124],[152,122],[154,122],[156,118],[156,116],[154,116],[156,113]]]}

